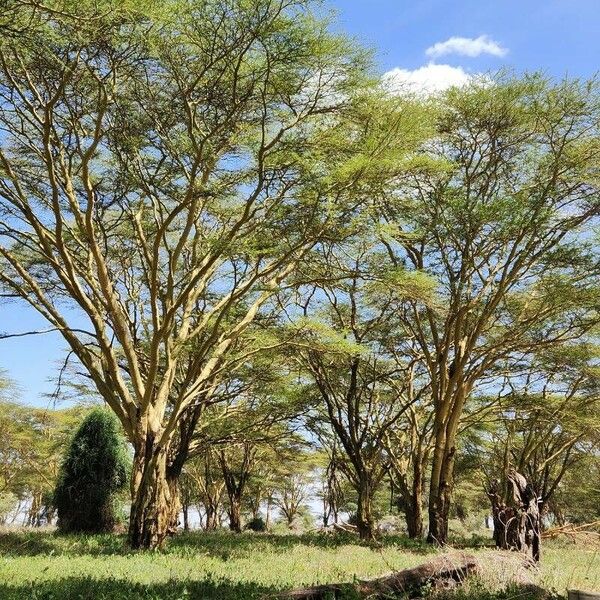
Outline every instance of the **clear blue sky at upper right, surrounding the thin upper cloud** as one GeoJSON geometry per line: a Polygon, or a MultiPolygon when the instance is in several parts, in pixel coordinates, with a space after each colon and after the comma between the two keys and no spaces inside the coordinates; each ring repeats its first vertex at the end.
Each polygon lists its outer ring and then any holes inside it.
{"type": "Polygon", "coordinates": [[[332,0],[341,27],[374,47],[382,70],[417,69],[427,48],[487,35],[507,54],[449,54],[436,63],[469,72],[509,66],[589,77],[600,68],[599,0],[332,0]]]}

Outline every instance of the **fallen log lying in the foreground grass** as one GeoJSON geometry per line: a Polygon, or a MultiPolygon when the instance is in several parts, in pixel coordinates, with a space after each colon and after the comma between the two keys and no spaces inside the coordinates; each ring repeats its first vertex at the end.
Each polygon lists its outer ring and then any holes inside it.
{"type": "Polygon", "coordinates": [[[354,592],[360,598],[371,600],[388,599],[404,594],[410,598],[421,595],[424,586],[445,586],[462,582],[468,575],[477,572],[479,565],[474,556],[447,554],[439,556],[412,569],[396,571],[384,577],[367,579],[355,583],[333,583],[291,590],[279,598],[286,600],[333,600],[354,592]]]}

